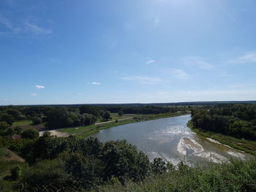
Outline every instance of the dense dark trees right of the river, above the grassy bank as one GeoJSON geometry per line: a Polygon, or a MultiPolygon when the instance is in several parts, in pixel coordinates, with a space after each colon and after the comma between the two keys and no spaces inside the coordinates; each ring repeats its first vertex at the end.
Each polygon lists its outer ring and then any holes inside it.
{"type": "Polygon", "coordinates": [[[209,110],[192,110],[192,124],[194,128],[256,140],[256,105],[222,104],[209,110]]]}

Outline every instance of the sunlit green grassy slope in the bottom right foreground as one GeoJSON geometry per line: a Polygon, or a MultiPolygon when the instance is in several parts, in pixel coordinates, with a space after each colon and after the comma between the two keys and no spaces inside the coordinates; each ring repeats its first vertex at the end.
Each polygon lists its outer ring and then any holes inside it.
{"type": "Polygon", "coordinates": [[[256,191],[256,161],[233,159],[230,164],[182,167],[180,170],[147,177],[140,183],[112,183],[94,191],[256,191]]]}

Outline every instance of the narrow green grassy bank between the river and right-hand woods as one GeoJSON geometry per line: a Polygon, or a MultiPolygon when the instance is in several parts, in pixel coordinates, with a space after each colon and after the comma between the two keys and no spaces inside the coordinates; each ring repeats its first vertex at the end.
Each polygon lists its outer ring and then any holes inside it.
{"type": "Polygon", "coordinates": [[[211,131],[201,130],[199,128],[193,128],[191,120],[187,123],[187,126],[192,129],[197,135],[205,138],[214,139],[220,142],[222,145],[230,146],[236,150],[244,151],[251,155],[256,156],[256,142],[246,139],[237,139],[223,134],[213,133],[211,131]]]}

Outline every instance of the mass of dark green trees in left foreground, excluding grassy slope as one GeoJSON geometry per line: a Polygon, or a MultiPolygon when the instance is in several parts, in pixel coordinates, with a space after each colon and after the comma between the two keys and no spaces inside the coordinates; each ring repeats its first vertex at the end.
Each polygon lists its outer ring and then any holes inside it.
{"type": "Polygon", "coordinates": [[[36,191],[47,187],[55,191],[70,188],[75,191],[105,185],[113,181],[141,181],[151,174],[173,169],[161,158],[151,163],[145,153],[126,141],[99,142],[98,139],[42,137],[13,140],[0,137],[0,148],[7,147],[29,162],[26,168],[15,167],[15,175],[5,180],[17,180],[17,189],[36,191]],[[17,173],[18,170],[18,173],[17,173]]]}

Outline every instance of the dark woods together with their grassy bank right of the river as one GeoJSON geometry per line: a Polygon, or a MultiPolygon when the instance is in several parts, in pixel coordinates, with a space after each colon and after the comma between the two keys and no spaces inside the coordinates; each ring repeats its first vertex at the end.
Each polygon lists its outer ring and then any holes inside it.
{"type": "Polygon", "coordinates": [[[256,155],[256,105],[226,104],[192,110],[188,123],[197,134],[256,155]]]}

